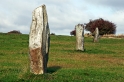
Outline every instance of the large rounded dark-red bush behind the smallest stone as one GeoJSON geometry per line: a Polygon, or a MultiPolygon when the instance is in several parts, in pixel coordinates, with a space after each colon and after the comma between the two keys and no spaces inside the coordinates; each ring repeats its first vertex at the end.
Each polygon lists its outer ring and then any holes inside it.
{"type": "Polygon", "coordinates": [[[116,25],[102,18],[90,20],[90,22],[85,25],[85,29],[91,33],[95,31],[96,27],[98,27],[100,35],[116,33],[116,25]]]}

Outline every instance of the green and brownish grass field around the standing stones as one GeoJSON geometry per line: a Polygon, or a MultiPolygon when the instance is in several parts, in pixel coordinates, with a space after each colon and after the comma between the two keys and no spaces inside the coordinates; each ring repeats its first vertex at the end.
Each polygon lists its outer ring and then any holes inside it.
{"type": "Polygon", "coordinates": [[[85,52],[74,36],[51,36],[48,73],[29,71],[28,35],[0,34],[0,82],[124,82],[124,39],[85,37],[85,52]]]}

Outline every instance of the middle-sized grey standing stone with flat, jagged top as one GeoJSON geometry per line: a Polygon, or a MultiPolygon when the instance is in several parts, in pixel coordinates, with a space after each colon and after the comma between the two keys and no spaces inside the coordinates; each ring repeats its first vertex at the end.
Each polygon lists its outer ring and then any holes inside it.
{"type": "Polygon", "coordinates": [[[76,50],[84,51],[84,26],[76,25],[76,50]]]}

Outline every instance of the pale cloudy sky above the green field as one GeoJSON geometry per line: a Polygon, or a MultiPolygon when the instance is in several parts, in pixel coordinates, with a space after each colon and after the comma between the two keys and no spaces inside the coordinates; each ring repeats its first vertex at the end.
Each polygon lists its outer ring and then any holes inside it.
{"type": "Polygon", "coordinates": [[[50,33],[70,35],[75,25],[103,18],[116,24],[116,34],[124,34],[123,3],[124,0],[1,0],[0,32],[18,30],[29,34],[33,10],[45,4],[50,33]]]}

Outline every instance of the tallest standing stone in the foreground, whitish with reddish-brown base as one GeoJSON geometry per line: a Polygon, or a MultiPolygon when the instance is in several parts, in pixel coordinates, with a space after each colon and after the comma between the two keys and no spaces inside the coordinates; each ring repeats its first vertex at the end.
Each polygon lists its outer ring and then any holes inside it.
{"type": "Polygon", "coordinates": [[[47,71],[50,45],[46,6],[36,8],[32,14],[29,34],[30,71],[34,74],[44,74],[47,71]]]}

